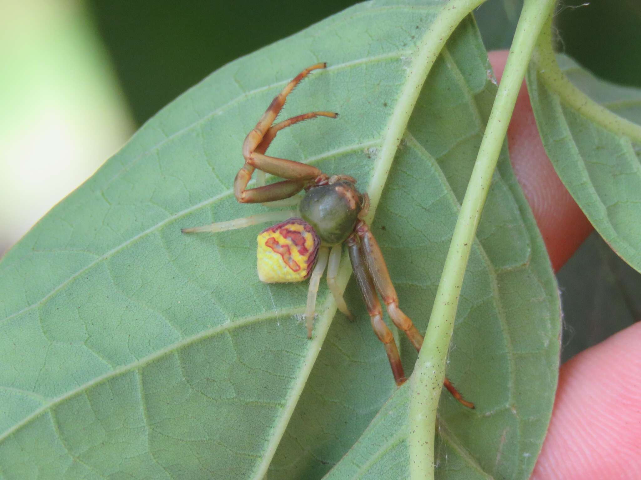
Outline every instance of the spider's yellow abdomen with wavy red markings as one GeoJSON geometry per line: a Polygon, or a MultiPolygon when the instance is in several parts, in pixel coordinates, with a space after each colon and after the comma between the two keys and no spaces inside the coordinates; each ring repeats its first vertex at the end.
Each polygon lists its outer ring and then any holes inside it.
{"type": "Polygon", "coordinates": [[[316,262],[320,239],[309,223],[290,218],[258,234],[258,278],[268,284],[301,282],[316,262]]]}

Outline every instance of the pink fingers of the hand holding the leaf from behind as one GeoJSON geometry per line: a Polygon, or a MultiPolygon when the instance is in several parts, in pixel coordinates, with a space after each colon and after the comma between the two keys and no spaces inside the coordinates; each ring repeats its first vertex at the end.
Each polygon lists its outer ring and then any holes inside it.
{"type": "MultiPolygon", "coordinates": [[[[490,52],[500,79],[506,51],[490,52]]],[[[525,85],[508,127],[510,159],[558,271],[593,228],[554,172],[525,85]]],[[[607,321],[607,319],[603,319],[607,321]]],[[[641,479],[641,323],[561,367],[531,480],[641,479]]]]}

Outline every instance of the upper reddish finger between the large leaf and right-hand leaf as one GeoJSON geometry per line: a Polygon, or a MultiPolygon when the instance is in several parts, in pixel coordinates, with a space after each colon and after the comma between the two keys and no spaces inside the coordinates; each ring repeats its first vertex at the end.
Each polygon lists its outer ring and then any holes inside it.
{"type": "MultiPolygon", "coordinates": [[[[495,51],[488,56],[500,81],[508,52],[495,51]]],[[[537,221],[554,271],[558,271],[594,228],[545,154],[525,82],[507,136],[514,173],[537,221]]]]}

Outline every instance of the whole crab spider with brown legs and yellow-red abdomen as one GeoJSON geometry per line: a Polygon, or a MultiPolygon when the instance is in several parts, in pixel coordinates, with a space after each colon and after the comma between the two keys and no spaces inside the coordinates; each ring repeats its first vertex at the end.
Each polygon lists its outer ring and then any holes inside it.
{"type": "MultiPolygon", "coordinates": [[[[383,309],[378,300],[377,291],[387,308],[390,319],[407,335],[417,350],[420,350],[423,337],[412,320],[399,308],[398,296],[387,271],[383,253],[369,226],[363,220],[369,209],[369,197],[356,189],[354,186],[356,180],[353,177],[329,176],[313,165],[265,155],[276,134],[285,127],[317,116],[337,118],[337,113],[316,111],[293,116],[272,125],[283,108],[287,95],[294,90],[296,84],[308,76],[312,70],[325,67],[325,63],[318,63],[305,68],[283,88],[281,93],[276,95],[256,127],[247,134],[242,146],[245,164],[234,180],[234,195],[238,202],[247,204],[265,202],[266,205],[272,205],[269,202],[274,202],[274,206],[277,206],[276,204],[279,206],[283,201],[288,202],[285,199],[293,197],[304,189],[303,198],[293,199],[294,202],[290,203],[290,205],[296,204],[297,210],[258,214],[204,227],[183,228],[183,232],[222,232],[277,220],[276,225],[265,228],[258,234],[258,276],[262,282],[270,283],[299,282],[310,278],[305,311],[310,338],[316,293],[320,276],[326,266],[329,290],[335,298],[337,307],[346,316],[352,318],[343,299],[342,290],[335,282],[342,244],[347,243],[349,259],[363,300],[367,305],[372,328],[385,345],[396,384],[401,385],[405,381],[403,365],[401,365],[394,335],[383,321],[383,309]],[[247,188],[255,170],[261,172],[256,180],[257,186],[247,188]],[[286,180],[265,185],[265,173],[271,173],[286,180]]],[[[444,385],[458,401],[474,408],[473,404],[462,399],[447,378],[444,385]]]]}

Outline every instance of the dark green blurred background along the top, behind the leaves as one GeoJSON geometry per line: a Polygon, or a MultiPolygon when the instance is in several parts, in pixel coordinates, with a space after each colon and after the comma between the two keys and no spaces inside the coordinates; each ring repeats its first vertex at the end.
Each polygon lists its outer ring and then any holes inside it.
{"type": "MultiPolygon", "coordinates": [[[[140,125],[216,68],[354,3],[94,0],[88,6],[140,125]]],[[[563,4],[556,25],[565,52],[599,76],[641,86],[641,2],[563,4]]],[[[516,0],[490,0],[478,9],[488,50],[509,47],[519,12],[516,0]]]]}

